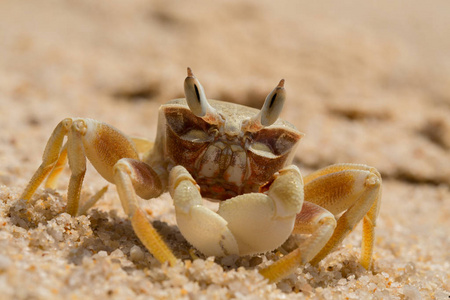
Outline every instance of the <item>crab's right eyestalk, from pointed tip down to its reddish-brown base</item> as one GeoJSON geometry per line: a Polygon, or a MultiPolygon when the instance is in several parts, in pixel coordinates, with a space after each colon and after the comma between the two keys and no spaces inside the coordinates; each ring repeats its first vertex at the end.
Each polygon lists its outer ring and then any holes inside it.
{"type": "Polygon", "coordinates": [[[281,79],[280,83],[267,95],[261,111],[243,124],[243,129],[255,132],[275,123],[283,109],[285,99],[284,79],[281,79]]]}

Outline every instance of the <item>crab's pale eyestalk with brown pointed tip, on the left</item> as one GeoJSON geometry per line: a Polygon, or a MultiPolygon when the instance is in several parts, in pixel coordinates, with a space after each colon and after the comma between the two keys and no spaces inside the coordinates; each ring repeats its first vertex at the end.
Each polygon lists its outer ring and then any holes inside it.
{"type": "Polygon", "coordinates": [[[214,111],[211,105],[206,100],[205,91],[203,90],[200,81],[194,76],[191,68],[187,68],[188,76],[184,80],[184,93],[186,95],[186,102],[190,110],[197,117],[204,117],[206,113],[214,111]]]}

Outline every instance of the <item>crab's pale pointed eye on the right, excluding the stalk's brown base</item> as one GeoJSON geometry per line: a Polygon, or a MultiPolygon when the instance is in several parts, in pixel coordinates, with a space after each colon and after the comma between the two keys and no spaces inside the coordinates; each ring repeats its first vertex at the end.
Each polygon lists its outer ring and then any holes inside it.
{"type": "Polygon", "coordinates": [[[267,95],[266,101],[261,108],[261,125],[270,126],[278,119],[281,109],[286,99],[286,90],[284,89],[284,79],[267,95]]]}

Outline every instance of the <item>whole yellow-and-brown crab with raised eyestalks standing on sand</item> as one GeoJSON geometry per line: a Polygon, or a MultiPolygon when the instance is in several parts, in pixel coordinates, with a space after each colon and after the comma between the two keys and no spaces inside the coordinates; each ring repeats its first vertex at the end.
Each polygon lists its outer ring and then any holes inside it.
{"type": "Polygon", "coordinates": [[[93,119],[62,120],[21,198],[30,200],[45,179],[47,188],[55,188],[68,160],[67,213],[86,213],[105,192],[79,205],[89,159],[115,184],[134,232],[161,263],[174,265],[177,258],[137,197],[151,199],[168,190],[180,232],[206,256],[265,253],[292,234],[309,234],[295,250],[260,268],[271,282],[301,264],[317,264],[361,219],[360,263],[370,269],[380,173],[366,165],[336,164],[302,177],[292,160],[304,134],[278,118],[286,98],[284,80],[261,110],[208,100],[190,68],[184,90],[186,98],[160,107],[154,143],[93,119]],[[203,199],[219,202],[218,210],[204,206],[203,199]]]}

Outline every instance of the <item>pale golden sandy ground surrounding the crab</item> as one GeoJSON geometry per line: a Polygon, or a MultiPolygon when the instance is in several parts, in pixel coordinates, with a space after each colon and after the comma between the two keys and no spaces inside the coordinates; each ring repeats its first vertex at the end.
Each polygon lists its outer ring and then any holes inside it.
{"type": "MultiPolygon", "coordinates": [[[[0,298],[448,299],[450,4],[314,3],[1,1],[0,298]],[[258,108],[285,78],[305,174],[379,169],[372,272],[358,263],[360,227],[319,267],[267,284],[257,268],[288,246],[192,261],[167,194],[142,205],[184,260],[173,268],[137,240],[114,187],[77,218],[64,213],[68,171],[56,191],[18,199],[65,117],[154,139],[187,66],[209,97],[258,108]]],[[[104,184],[89,168],[84,197],[104,184]]]]}

